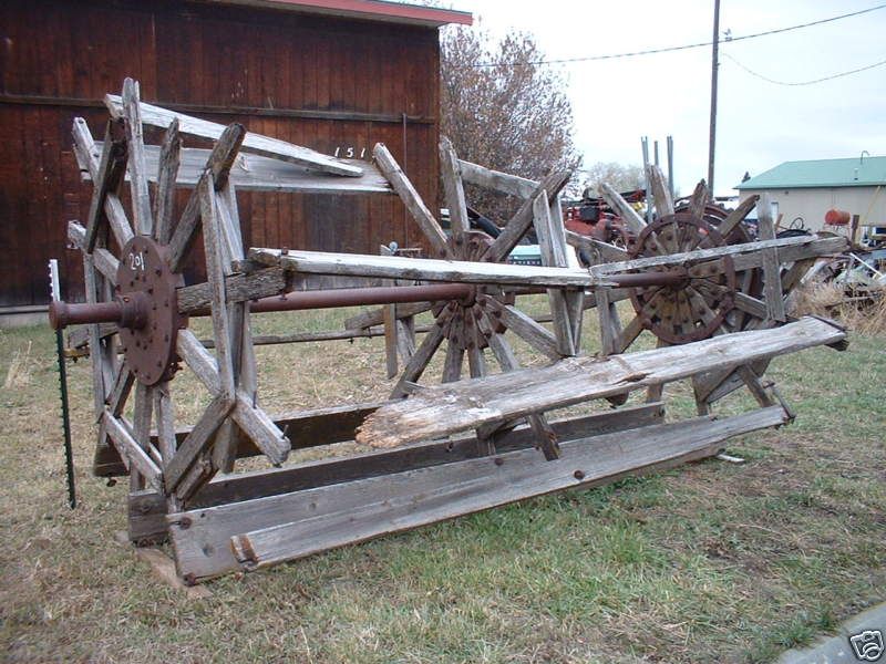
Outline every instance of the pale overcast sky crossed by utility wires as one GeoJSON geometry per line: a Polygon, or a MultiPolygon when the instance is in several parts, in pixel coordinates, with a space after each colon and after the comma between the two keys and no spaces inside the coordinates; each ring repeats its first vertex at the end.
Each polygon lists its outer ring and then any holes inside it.
{"type": "MultiPolygon", "coordinates": [[[[805,23],[878,4],[877,0],[721,0],[720,31],[733,37],[805,23]]],[[[532,32],[550,59],[710,41],[713,0],[575,2],[453,0],[494,35],[532,32]]],[[[886,66],[814,85],[808,81],[886,60],[886,9],[782,34],[721,43],[717,195],[745,170],[782,162],[886,155],[886,66]]],[[[708,172],[711,48],[557,65],[568,79],[576,145],[585,163],[641,164],[640,136],[658,138],[663,160],[674,141],[683,195],[708,172]]]]}

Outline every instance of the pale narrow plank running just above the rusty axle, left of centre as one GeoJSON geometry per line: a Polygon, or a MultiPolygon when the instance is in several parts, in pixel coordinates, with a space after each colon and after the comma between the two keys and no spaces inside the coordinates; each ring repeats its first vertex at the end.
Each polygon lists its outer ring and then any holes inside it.
{"type": "Polygon", "coordinates": [[[580,268],[544,268],[511,263],[405,258],[402,256],[296,251],[292,249],[287,253],[282,253],[279,249],[256,247],[249,249],[249,258],[257,263],[280,266],[285,270],[313,274],[552,288],[590,288],[599,283],[611,284],[605,277],[594,278],[580,268]]]}

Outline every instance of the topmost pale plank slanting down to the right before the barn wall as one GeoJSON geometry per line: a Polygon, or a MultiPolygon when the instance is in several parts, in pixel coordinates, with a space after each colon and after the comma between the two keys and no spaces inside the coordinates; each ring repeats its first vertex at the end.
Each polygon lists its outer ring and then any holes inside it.
{"type": "MultiPolygon", "coordinates": [[[[105,95],[104,103],[113,117],[122,116],[123,110],[120,96],[115,94],[105,95]]],[[[161,106],[154,106],[153,104],[145,104],[144,102],[141,104],[140,113],[144,124],[163,129],[168,127],[174,120],[177,120],[179,131],[189,136],[199,136],[200,138],[216,141],[225,131],[224,125],[199,120],[190,115],[185,115],[184,113],[176,113],[167,108],[162,108],[161,106]]],[[[331,173],[333,175],[360,177],[363,174],[362,169],[353,164],[347,164],[341,159],[308,149],[307,147],[293,145],[260,134],[249,133],[244,139],[243,149],[247,153],[262,155],[274,159],[282,159],[284,162],[299,164],[315,170],[331,173]]]]}

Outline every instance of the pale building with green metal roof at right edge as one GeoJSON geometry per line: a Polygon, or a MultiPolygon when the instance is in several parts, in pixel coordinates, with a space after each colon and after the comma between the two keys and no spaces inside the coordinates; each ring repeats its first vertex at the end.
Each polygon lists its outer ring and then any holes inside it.
{"type": "Polygon", "coordinates": [[[735,188],[740,200],[769,194],[782,228],[802,220],[807,229],[822,230],[831,209],[858,216],[859,239],[870,227],[886,227],[886,157],[785,162],[735,188]]]}

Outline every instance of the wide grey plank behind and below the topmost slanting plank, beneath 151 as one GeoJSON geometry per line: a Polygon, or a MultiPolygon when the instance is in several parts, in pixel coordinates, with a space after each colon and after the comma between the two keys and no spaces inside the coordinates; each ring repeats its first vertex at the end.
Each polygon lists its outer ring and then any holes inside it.
{"type": "MultiPolygon", "coordinates": [[[[248,134],[247,134],[248,136],[248,134]]],[[[102,149],[103,143],[95,146],[102,149]]],[[[203,147],[184,147],[175,185],[182,189],[193,189],[206,168],[210,149],[203,147]]],[[[148,181],[157,181],[162,147],[145,145],[145,162],[148,181]]],[[[384,194],[393,195],[391,184],[384,179],[374,164],[358,159],[339,159],[363,170],[360,177],[341,177],[328,173],[318,173],[303,166],[280,162],[270,157],[240,152],[230,169],[230,181],[241,191],[277,191],[286,194],[384,194]]],[[[85,179],[92,179],[89,172],[85,179]]]]}

